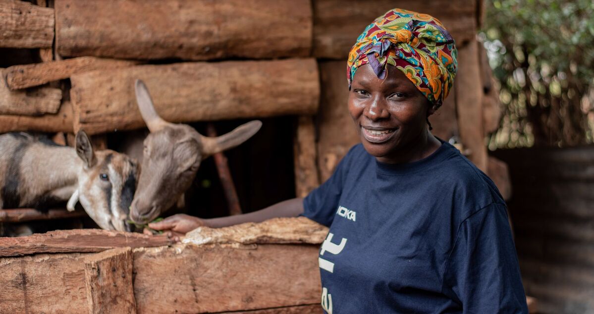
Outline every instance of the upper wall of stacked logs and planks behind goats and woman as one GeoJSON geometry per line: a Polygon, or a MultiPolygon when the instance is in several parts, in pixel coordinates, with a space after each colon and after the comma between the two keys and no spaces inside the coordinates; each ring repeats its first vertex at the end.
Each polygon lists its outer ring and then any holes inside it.
{"type": "Polygon", "coordinates": [[[42,61],[1,69],[0,132],[143,128],[133,88],[140,78],[172,122],[299,116],[298,196],[327,179],[358,141],[345,127],[345,60],[358,34],[394,7],[434,15],[459,49],[454,91],[431,118],[435,134],[457,138],[509,190],[505,164],[487,156],[484,141],[500,112],[475,40],[481,1],[33,2],[0,1],[0,47],[39,49],[42,61]]]}

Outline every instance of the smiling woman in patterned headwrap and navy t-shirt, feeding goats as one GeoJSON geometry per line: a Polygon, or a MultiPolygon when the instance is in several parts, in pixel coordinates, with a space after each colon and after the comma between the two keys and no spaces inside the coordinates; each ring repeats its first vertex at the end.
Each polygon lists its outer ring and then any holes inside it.
{"type": "Polygon", "coordinates": [[[393,9],[348,60],[349,112],[361,135],[305,199],[150,227],[185,233],[305,215],[330,227],[320,250],[327,313],[527,313],[505,203],[493,182],[429,132],[456,74],[441,23],[393,9]]]}

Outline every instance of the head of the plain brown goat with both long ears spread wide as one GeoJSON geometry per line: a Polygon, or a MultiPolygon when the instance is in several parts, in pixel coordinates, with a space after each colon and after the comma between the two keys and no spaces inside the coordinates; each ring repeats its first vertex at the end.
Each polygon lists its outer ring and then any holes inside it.
{"type": "Polygon", "coordinates": [[[172,207],[189,188],[204,158],[252,137],[262,125],[245,123],[228,134],[205,137],[189,125],[166,122],[154,109],[149,90],[135,83],[136,100],[150,134],[144,139],[143,160],[130,218],[144,224],[172,207]]]}

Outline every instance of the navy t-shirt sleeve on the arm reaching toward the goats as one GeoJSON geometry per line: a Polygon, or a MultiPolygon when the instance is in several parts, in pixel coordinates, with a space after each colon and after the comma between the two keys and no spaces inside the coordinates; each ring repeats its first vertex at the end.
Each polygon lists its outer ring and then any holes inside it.
{"type": "Polygon", "coordinates": [[[303,201],[304,216],[330,227],[334,220],[334,212],[338,207],[343,184],[349,171],[349,162],[355,153],[357,145],[350,148],[349,152],[342,158],[336,170],[326,182],[309,192],[303,201]]]}

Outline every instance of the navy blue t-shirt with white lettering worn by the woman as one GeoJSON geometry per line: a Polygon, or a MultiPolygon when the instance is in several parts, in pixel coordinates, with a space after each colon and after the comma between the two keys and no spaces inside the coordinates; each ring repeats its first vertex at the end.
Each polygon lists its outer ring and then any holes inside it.
{"type": "Polygon", "coordinates": [[[527,313],[505,202],[452,145],[385,164],[355,145],[304,200],[330,227],[327,313],[527,313]]]}

